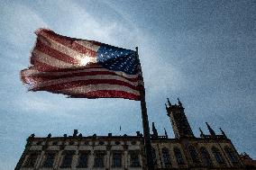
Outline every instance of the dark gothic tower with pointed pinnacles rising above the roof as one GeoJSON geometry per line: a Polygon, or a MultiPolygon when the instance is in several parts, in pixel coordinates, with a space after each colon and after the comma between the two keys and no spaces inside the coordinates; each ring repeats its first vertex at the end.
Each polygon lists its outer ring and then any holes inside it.
{"type": "Polygon", "coordinates": [[[171,121],[172,129],[175,134],[175,138],[193,138],[195,137],[190,125],[187,121],[187,117],[184,112],[184,107],[182,103],[178,100],[178,105],[171,105],[169,98],[167,98],[168,103],[165,104],[167,115],[171,121]]]}

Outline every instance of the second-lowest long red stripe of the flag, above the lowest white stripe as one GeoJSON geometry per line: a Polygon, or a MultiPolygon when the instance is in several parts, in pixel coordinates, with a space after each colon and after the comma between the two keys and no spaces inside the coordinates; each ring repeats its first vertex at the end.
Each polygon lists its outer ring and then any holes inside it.
{"type": "Polygon", "coordinates": [[[32,88],[32,91],[55,91],[55,90],[62,90],[68,89],[73,87],[78,87],[82,85],[98,85],[98,84],[108,84],[108,85],[123,85],[130,87],[133,90],[139,91],[142,85],[131,85],[126,82],[120,80],[107,80],[107,79],[91,79],[91,80],[78,80],[72,82],[61,83],[58,85],[48,85],[43,87],[35,87],[32,88]]]}

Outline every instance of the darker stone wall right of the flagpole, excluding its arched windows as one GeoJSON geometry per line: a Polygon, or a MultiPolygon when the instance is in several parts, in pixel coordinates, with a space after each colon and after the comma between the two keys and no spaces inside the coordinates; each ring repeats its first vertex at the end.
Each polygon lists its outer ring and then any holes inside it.
{"type": "Polygon", "coordinates": [[[162,148],[169,149],[169,157],[171,161],[171,168],[189,168],[189,169],[244,169],[242,161],[233,148],[233,144],[229,139],[173,139],[173,140],[155,140],[152,141],[152,147],[156,150],[157,167],[166,168],[163,163],[162,148]],[[189,153],[189,146],[193,146],[196,149],[199,163],[194,163],[189,153]],[[232,163],[228,154],[224,151],[224,148],[231,148],[234,151],[235,157],[237,157],[237,163],[232,163]],[[174,148],[178,148],[184,159],[184,165],[178,165],[177,159],[174,155],[174,148]],[[202,154],[200,148],[206,148],[212,161],[212,166],[206,166],[202,161],[202,154]],[[217,148],[223,159],[224,164],[219,164],[216,161],[212,148],[217,148]]]}

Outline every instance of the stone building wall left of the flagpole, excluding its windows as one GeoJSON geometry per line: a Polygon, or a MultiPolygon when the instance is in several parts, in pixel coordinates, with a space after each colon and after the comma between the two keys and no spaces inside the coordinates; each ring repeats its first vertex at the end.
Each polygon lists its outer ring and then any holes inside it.
{"type": "Polygon", "coordinates": [[[62,160],[65,156],[65,152],[67,151],[74,151],[74,156],[72,158],[72,166],[69,168],[65,168],[66,170],[73,170],[73,169],[131,169],[131,170],[139,170],[144,167],[143,162],[143,146],[142,146],[142,139],[39,139],[34,138],[32,139],[31,144],[29,144],[25,151],[25,157],[22,157],[20,160],[21,167],[16,166],[15,169],[21,170],[50,170],[50,169],[64,169],[61,168],[62,160]],[[41,141],[44,140],[44,141],[41,141]],[[47,141],[45,141],[47,140],[47,141]],[[41,144],[38,142],[41,141],[41,144]],[[57,143],[54,143],[57,142],[57,143]],[[70,145],[70,142],[72,145],[70,145]],[[117,143],[116,143],[117,142],[117,143]],[[118,143],[119,142],[119,143],[118,143]],[[53,144],[54,143],[54,144],[53,144]],[[79,151],[87,151],[88,154],[88,161],[87,161],[87,168],[78,168],[78,157],[79,151]],[[97,151],[103,151],[105,153],[104,157],[104,167],[96,167],[95,166],[95,153],[97,151]],[[55,152],[56,157],[54,159],[54,165],[52,168],[44,168],[43,162],[46,159],[46,153],[48,152],[55,152]],[[121,167],[113,167],[113,153],[120,152],[122,155],[122,166],[121,167]],[[131,152],[137,152],[139,155],[140,166],[132,167],[131,166],[131,152]],[[24,167],[26,164],[27,159],[30,157],[31,153],[38,153],[40,156],[37,158],[34,168],[24,167]]]}

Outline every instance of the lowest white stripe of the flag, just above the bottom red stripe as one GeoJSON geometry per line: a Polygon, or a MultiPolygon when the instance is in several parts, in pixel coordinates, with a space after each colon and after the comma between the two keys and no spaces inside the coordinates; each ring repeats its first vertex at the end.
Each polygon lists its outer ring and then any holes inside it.
{"type": "Polygon", "coordinates": [[[58,90],[59,93],[69,93],[69,94],[86,94],[88,92],[96,92],[98,90],[115,90],[123,91],[130,94],[140,95],[140,92],[133,90],[130,87],[123,85],[108,85],[108,84],[99,84],[99,85],[83,85],[78,87],[73,87],[69,89],[58,90]]]}

